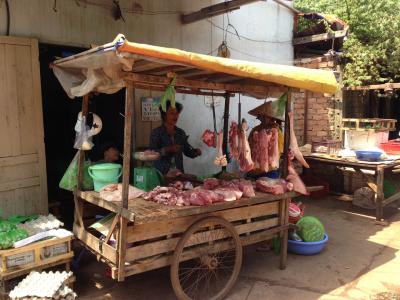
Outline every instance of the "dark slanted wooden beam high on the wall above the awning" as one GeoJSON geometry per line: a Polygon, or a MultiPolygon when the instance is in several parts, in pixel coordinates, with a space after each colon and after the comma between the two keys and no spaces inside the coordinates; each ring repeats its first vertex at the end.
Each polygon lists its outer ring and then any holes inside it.
{"type": "Polygon", "coordinates": [[[202,8],[199,11],[181,15],[182,24],[189,24],[199,20],[204,20],[213,16],[219,16],[233,10],[239,9],[240,6],[257,2],[259,0],[230,0],[222,3],[214,4],[202,8]]]}

